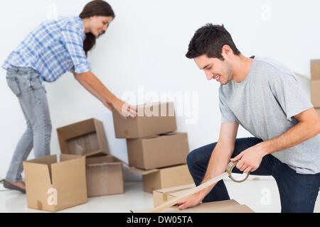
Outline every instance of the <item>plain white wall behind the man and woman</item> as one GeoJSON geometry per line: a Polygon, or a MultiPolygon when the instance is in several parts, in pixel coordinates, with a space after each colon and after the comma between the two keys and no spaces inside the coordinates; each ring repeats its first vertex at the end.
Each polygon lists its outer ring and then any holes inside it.
{"type": "MultiPolygon", "coordinates": [[[[0,1],[0,62],[32,28],[53,15],[50,4],[57,7],[58,16],[76,16],[87,2],[0,1]]],[[[156,94],[198,92],[197,123],[186,124],[188,117],[178,118],[178,131],[188,133],[191,150],[215,142],[220,126],[218,83],[208,82],[194,62],[184,57],[196,29],[209,22],[223,23],[244,55],[273,57],[306,77],[310,74],[309,60],[320,58],[319,0],[109,3],[116,18],[90,54],[93,72],[119,97],[128,91],[137,94],[139,86],[144,92],[156,94]]],[[[26,128],[5,74],[0,70],[0,179],[5,177],[16,143],[26,128]]],[[[309,95],[308,81],[301,81],[309,95]]],[[[46,89],[53,123],[51,153],[60,152],[55,128],[94,117],[104,122],[112,154],[127,161],[125,140],[114,138],[112,114],[82,89],[72,74],[46,84],[46,89]]],[[[240,128],[238,137],[244,136],[250,133],[240,128]]],[[[126,174],[126,179],[140,178],[126,174]]]]}

